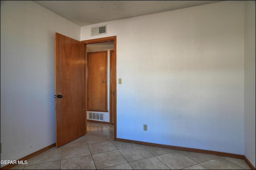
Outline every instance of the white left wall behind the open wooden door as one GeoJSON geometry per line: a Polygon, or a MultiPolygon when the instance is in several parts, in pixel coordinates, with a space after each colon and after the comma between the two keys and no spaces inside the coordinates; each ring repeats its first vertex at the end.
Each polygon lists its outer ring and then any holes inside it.
{"type": "Polygon", "coordinates": [[[35,2],[1,0],[1,160],[55,143],[55,32],[80,40],[80,26],[35,2]]]}

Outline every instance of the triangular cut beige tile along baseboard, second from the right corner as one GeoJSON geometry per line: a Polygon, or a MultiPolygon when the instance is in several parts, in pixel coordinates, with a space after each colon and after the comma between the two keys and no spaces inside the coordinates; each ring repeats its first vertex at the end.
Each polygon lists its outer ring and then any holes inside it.
{"type": "Polygon", "coordinates": [[[212,154],[203,154],[203,153],[198,153],[198,152],[188,152],[188,151],[183,151],[183,150],[179,150],[178,152],[184,154],[188,158],[196,161],[197,163],[206,162],[208,160],[212,160],[212,159],[220,157],[220,156],[212,155],[212,154]]]}

